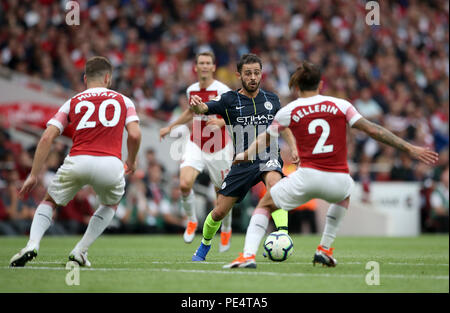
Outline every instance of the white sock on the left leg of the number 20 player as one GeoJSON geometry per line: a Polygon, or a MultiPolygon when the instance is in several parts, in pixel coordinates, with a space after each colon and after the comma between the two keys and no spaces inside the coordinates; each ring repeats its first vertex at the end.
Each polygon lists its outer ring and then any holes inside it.
{"type": "Polygon", "coordinates": [[[30,239],[27,246],[39,250],[39,244],[47,229],[52,225],[53,207],[48,202],[41,202],[34,213],[31,223],[30,239]]]}

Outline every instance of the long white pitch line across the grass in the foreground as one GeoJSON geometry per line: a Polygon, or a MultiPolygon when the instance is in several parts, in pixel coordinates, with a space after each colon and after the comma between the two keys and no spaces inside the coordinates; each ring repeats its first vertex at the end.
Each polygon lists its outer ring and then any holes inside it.
{"type": "MultiPolygon", "coordinates": [[[[53,271],[67,271],[64,267],[41,267],[41,266],[28,266],[28,267],[7,267],[4,266],[2,269],[10,270],[53,270],[53,271]]],[[[255,272],[255,271],[239,271],[239,270],[184,270],[184,269],[170,269],[170,268],[80,268],[82,271],[102,271],[102,272],[113,272],[113,271],[128,271],[128,272],[178,272],[178,273],[198,273],[198,274],[224,274],[224,275],[266,275],[266,276],[282,276],[282,277],[330,277],[330,278],[359,278],[363,279],[364,274],[318,274],[318,273],[279,273],[279,272],[255,272]]],[[[448,280],[448,276],[440,275],[400,275],[400,274],[384,274],[384,278],[393,279],[431,279],[431,280],[448,280]]]]}

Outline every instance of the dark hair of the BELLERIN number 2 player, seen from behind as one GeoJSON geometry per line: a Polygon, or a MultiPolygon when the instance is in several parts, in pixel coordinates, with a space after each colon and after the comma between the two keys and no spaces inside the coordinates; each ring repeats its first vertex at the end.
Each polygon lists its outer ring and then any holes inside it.
{"type": "Polygon", "coordinates": [[[308,61],[303,61],[297,67],[297,70],[292,74],[289,80],[289,88],[298,86],[300,91],[314,91],[319,87],[322,73],[320,68],[308,61]]]}

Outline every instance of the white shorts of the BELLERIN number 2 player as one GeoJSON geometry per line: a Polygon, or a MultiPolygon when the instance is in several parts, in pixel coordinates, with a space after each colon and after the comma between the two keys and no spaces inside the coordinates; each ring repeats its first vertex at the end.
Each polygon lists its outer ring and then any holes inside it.
{"type": "Polygon", "coordinates": [[[354,185],[352,177],[347,173],[299,167],[277,182],[270,189],[270,195],[278,208],[289,211],[311,199],[340,202],[350,196],[354,185]]]}

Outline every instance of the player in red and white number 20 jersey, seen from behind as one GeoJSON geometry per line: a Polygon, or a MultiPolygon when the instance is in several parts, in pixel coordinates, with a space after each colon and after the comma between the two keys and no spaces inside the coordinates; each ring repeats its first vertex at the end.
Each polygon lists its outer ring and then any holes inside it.
{"type": "Polygon", "coordinates": [[[74,126],[73,145],[56,172],[47,194],[34,214],[30,238],[25,248],[11,258],[10,266],[24,266],[36,257],[40,241],[52,223],[53,211],[66,205],[84,186],[91,185],[100,205],[89,221],[83,238],[69,254],[69,260],[90,266],[89,246],[103,233],[114,217],[117,204],[125,192],[124,174],[136,170],[136,156],[141,142],[139,118],[133,102],[108,89],[112,66],[104,57],[86,62],[84,81],[87,90],[66,101],[47,123],[33,159],[31,173],[19,196],[30,192],[38,181],[53,141],[64,128],[74,126]],[[122,137],[128,132],[128,157],[122,162],[122,137]]]}

